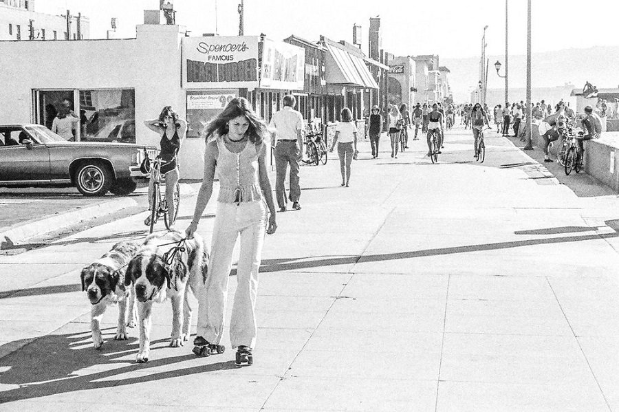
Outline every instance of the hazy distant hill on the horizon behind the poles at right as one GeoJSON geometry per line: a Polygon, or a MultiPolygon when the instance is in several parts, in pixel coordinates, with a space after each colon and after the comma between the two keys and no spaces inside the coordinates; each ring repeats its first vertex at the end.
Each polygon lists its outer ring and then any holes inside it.
{"type": "MultiPolygon", "coordinates": [[[[495,62],[503,64],[503,55],[488,56],[488,89],[505,87],[497,76],[495,62]]],[[[468,101],[470,90],[479,81],[479,56],[470,58],[441,58],[441,65],[450,70],[449,83],[457,101],[468,101]]],[[[509,87],[525,87],[527,60],[525,55],[510,56],[509,87]]],[[[619,87],[619,46],[567,49],[534,53],[531,56],[532,87],[554,87],[572,83],[583,87],[589,80],[598,88],[619,87]]]]}

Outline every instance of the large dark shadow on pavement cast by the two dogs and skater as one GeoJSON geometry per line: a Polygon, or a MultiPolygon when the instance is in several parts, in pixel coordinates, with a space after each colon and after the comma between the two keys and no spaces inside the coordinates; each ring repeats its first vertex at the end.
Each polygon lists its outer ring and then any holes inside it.
{"type": "MultiPolygon", "coordinates": [[[[87,327],[85,325],[85,328],[87,327]]],[[[191,351],[181,347],[178,348],[182,353],[179,356],[158,358],[138,364],[135,363],[133,357],[131,360],[120,359],[137,352],[137,340],[134,339],[133,342],[113,340],[116,327],[103,329],[102,332],[105,334],[106,342],[100,350],[95,350],[90,345],[89,332],[52,334],[36,339],[29,345],[1,358],[0,371],[6,371],[0,373],[0,384],[8,387],[19,385],[19,387],[0,391],[0,404],[58,393],[87,391],[188,376],[194,373],[236,369],[232,360],[208,365],[204,362],[195,362],[193,367],[173,370],[164,368],[165,371],[146,375],[151,370],[155,371],[161,367],[195,359],[195,356],[191,354],[191,351]],[[79,347],[76,347],[78,345],[79,347]],[[134,371],[139,371],[139,376],[121,377],[124,373],[134,371]],[[118,378],[115,378],[117,376],[118,378]]],[[[151,353],[157,352],[157,347],[153,347],[153,344],[168,340],[152,341],[151,353]]]]}

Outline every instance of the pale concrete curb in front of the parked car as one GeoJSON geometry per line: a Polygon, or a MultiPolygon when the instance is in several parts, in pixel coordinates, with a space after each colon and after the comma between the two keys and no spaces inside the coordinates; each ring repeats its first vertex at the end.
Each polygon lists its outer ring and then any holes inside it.
{"type": "Polygon", "coordinates": [[[41,235],[51,232],[52,230],[66,228],[80,221],[109,215],[110,213],[118,212],[118,210],[136,206],[137,204],[138,202],[135,202],[135,200],[129,197],[120,197],[110,200],[109,202],[88,206],[86,208],[70,210],[61,215],[26,221],[23,224],[12,226],[9,230],[0,233],[0,250],[6,249],[34,235],[41,235]]]}

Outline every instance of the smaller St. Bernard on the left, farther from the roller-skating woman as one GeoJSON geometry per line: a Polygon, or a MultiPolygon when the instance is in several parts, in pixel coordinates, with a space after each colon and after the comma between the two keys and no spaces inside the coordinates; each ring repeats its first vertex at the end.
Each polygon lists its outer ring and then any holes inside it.
{"type": "Polygon", "coordinates": [[[118,242],[100,259],[82,269],[82,290],[91,303],[90,329],[95,349],[103,345],[100,323],[109,305],[118,303],[118,327],[114,339],[127,339],[127,326],[135,327],[135,293],[133,288],[127,288],[124,277],[138,248],[138,243],[118,242]]]}

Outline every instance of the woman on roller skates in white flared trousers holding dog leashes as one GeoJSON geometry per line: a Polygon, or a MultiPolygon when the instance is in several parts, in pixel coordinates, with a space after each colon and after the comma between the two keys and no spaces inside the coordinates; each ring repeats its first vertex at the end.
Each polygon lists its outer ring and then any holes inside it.
{"type": "Polygon", "coordinates": [[[208,277],[199,296],[193,352],[198,356],[209,356],[213,351],[221,354],[225,349],[219,342],[224,332],[232,250],[240,235],[241,252],[230,322],[230,343],[233,349],[237,348],[236,364],[251,365],[257,333],[254,309],[264,234],[272,234],[277,228],[265,163],[267,125],[252,111],[245,98],[235,98],[206,126],[203,133],[206,138],[204,179],[193,220],[186,229],[188,238],[193,237],[213,193],[215,165],[219,172],[219,196],[208,277]]]}

